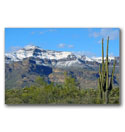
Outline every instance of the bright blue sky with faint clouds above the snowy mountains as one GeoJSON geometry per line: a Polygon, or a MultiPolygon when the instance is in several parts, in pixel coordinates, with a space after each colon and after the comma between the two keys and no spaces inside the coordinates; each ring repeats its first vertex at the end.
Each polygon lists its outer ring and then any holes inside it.
{"type": "Polygon", "coordinates": [[[119,56],[118,28],[5,28],[5,52],[26,45],[43,49],[72,51],[88,56],[101,56],[101,39],[109,41],[109,55],[119,56]]]}

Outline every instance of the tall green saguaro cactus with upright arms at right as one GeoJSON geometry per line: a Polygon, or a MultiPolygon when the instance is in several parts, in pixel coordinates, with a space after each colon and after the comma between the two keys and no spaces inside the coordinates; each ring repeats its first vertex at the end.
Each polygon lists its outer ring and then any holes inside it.
{"type": "Polygon", "coordinates": [[[107,39],[107,52],[106,52],[106,61],[104,62],[104,39],[102,39],[102,64],[99,65],[99,78],[98,78],[98,88],[101,103],[109,103],[109,94],[113,88],[113,77],[115,72],[115,63],[113,64],[113,70],[109,83],[109,62],[108,62],[108,47],[109,47],[109,37],[107,39]]]}

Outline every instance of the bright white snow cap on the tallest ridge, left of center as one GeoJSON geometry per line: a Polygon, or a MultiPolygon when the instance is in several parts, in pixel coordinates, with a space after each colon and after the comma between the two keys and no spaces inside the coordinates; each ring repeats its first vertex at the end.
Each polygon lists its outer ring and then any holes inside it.
{"type": "Polygon", "coordinates": [[[40,59],[50,59],[50,60],[61,60],[68,57],[72,57],[71,52],[61,52],[61,51],[52,51],[52,50],[43,50],[37,46],[28,45],[23,49],[20,49],[13,53],[6,53],[5,57],[6,62],[9,61],[21,61],[24,58],[34,57],[40,59]]]}

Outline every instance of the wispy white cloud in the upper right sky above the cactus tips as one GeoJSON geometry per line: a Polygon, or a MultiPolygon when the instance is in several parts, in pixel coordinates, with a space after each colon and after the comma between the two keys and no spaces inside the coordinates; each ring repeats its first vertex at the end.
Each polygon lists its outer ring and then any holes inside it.
{"type": "Polygon", "coordinates": [[[118,29],[111,29],[111,28],[102,28],[100,31],[98,32],[93,32],[91,30],[90,32],[90,37],[102,37],[107,39],[107,37],[109,36],[110,40],[115,40],[119,37],[119,30],[118,29]]]}

